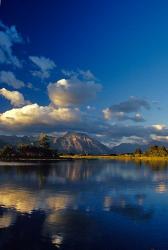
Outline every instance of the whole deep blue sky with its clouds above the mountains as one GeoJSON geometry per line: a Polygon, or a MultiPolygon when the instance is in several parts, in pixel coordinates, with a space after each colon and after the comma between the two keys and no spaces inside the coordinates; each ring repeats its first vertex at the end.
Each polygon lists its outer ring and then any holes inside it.
{"type": "Polygon", "coordinates": [[[2,0],[1,134],[167,141],[167,12],[167,1],[2,0]]]}

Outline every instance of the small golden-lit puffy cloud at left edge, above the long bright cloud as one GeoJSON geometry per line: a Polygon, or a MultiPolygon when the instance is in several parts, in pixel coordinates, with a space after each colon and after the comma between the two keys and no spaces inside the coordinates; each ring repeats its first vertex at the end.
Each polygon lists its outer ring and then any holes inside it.
{"type": "Polygon", "coordinates": [[[9,91],[5,88],[0,89],[0,95],[5,97],[15,107],[20,107],[28,103],[24,96],[18,91],[9,91]]]}

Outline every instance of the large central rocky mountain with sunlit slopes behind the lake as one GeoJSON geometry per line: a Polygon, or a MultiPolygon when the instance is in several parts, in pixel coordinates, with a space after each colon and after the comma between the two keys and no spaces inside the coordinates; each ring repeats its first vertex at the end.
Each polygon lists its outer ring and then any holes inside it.
{"type": "Polygon", "coordinates": [[[54,147],[66,154],[108,154],[110,149],[84,133],[67,133],[57,138],[54,147]]]}

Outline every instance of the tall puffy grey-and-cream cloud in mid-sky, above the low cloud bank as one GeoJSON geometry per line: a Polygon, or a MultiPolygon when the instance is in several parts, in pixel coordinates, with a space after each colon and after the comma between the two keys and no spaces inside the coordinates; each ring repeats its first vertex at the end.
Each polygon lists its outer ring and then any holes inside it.
{"type": "Polygon", "coordinates": [[[81,105],[93,99],[101,85],[93,81],[83,82],[77,78],[61,79],[48,85],[49,98],[57,106],[81,105]]]}

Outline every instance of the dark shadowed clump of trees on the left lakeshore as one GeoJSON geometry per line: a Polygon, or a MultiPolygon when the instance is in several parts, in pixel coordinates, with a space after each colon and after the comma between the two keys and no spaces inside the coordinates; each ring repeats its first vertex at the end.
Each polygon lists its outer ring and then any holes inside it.
{"type": "Polygon", "coordinates": [[[0,149],[0,159],[55,159],[57,151],[50,147],[49,138],[40,134],[38,140],[32,144],[6,145],[0,149]]]}

